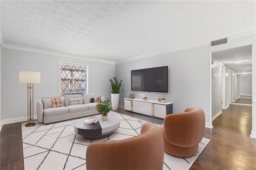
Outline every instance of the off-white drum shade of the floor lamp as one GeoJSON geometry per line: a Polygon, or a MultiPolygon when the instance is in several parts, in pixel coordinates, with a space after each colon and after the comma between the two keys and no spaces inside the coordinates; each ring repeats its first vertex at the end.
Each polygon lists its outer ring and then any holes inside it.
{"type": "Polygon", "coordinates": [[[20,71],[20,83],[40,83],[40,72],[20,71]]]}

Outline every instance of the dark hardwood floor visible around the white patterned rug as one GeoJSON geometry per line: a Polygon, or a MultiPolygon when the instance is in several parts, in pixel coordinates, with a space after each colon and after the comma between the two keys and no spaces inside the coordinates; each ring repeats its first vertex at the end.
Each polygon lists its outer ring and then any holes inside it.
{"type": "MultiPolygon", "coordinates": [[[[162,119],[126,112],[115,112],[161,125],[162,119]]],[[[250,138],[252,107],[230,105],[205,128],[204,137],[211,139],[191,170],[256,170],[256,139],[250,138]]],[[[0,170],[24,169],[20,123],[3,125],[0,133],[0,170]]]]}

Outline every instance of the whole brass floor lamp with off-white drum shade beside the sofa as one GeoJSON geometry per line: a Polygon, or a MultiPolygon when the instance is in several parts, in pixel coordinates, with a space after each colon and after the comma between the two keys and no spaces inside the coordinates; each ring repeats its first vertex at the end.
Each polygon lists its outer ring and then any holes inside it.
{"type": "Polygon", "coordinates": [[[20,83],[28,84],[28,123],[26,127],[32,127],[36,125],[34,123],[34,83],[40,83],[40,73],[20,71],[20,83]]]}

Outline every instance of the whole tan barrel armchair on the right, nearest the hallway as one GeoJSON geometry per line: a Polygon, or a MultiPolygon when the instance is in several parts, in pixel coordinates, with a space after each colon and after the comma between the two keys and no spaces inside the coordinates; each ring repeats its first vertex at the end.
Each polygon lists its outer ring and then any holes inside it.
{"type": "Polygon", "coordinates": [[[167,115],[161,130],[164,151],[179,157],[192,156],[204,136],[204,111],[197,107],[185,109],[184,113],[167,115]]]}

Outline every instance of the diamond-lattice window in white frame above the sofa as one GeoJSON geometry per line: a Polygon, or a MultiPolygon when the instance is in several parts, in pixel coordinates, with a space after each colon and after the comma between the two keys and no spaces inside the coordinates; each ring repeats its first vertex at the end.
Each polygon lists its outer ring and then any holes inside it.
{"type": "Polygon", "coordinates": [[[60,63],[60,95],[87,93],[87,66],[60,63]]]}

